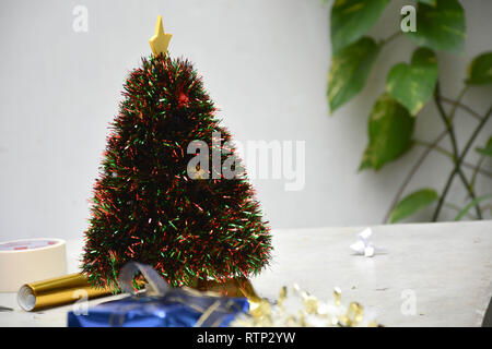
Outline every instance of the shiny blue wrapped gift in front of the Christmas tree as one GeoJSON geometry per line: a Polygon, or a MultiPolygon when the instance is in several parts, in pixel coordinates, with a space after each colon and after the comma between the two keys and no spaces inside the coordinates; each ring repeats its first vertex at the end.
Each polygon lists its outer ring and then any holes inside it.
{"type": "MultiPolygon", "coordinates": [[[[141,265],[137,266],[142,268],[141,265]]],[[[155,279],[155,276],[147,278],[155,279]]],[[[128,285],[128,280],[124,280],[125,284],[128,285]]],[[[68,313],[68,326],[224,327],[236,315],[246,313],[249,309],[247,298],[211,296],[189,289],[166,288],[163,285],[161,287],[164,288],[159,290],[159,287],[154,286],[157,296],[133,294],[108,301],[90,308],[86,314],[71,311],[68,313]]]]}

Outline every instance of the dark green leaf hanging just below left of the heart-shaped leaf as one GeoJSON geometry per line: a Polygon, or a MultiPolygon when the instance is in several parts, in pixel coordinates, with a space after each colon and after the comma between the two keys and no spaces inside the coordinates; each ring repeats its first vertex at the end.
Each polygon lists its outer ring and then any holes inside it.
{"type": "Polygon", "coordinates": [[[361,168],[380,169],[385,164],[400,157],[412,145],[414,118],[388,94],[374,104],[368,120],[370,143],[361,168]]]}

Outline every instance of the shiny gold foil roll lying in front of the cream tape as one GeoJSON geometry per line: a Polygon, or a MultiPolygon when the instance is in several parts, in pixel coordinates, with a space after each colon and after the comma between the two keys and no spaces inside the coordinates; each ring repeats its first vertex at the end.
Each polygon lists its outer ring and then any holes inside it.
{"type": "Polygon", "coordinates": [[[109,294],[109,288],[94,288],[84,275],[75,273],[23,285],[17,292],[17,303],[31,312],[109,294]]]}

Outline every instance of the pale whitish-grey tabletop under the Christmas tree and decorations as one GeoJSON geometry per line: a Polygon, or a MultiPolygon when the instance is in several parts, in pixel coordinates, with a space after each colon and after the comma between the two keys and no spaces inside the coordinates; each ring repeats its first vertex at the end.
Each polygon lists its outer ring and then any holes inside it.
{"type": "MultiPolygon", "coordinates": [[[[349,248],[363,228],[273,230],[272,262],[253,286],[277,299],[282,286],[297,284],[320,300],[339,287],[343,302],[358,301],[385,326],[481,325],[492,297],[492,221],[372,227],[373,242],[387,249],[374,257],[349,248]],[[406,308],[412,300],[413,313],[406,308]]],[[[77,272],[82,242],[67,248],[69,272],[77,272]]],[[[27,313],[15,293],[0,293],[0,305],[14,309],[0,312],[0,326],[66,326],[72,309],[27,313]]]]}

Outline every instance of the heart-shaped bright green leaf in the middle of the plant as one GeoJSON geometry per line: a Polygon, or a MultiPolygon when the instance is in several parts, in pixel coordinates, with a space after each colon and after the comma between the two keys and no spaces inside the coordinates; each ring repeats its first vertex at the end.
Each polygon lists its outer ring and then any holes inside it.
{"type": "Polygon", "coordinates": [[[415,116],[429,101],[437,82],[437,59],[429,48],[413,52],[411,64],[399,63],[390,70],[386,91],[415,116]]]}

